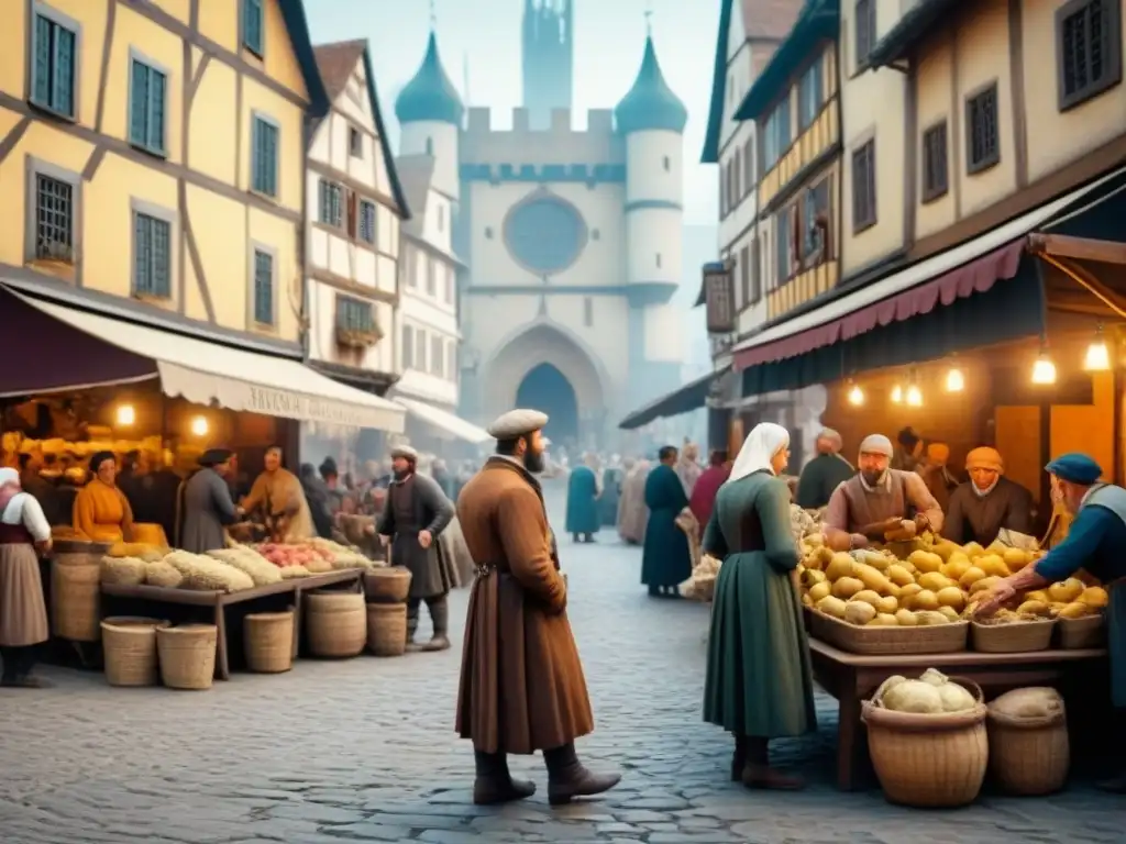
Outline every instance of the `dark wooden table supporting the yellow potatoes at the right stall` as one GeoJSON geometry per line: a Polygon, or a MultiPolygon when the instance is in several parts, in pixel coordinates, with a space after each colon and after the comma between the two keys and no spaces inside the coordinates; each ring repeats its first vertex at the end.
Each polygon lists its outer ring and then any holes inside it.
{"type": "Polygon", "coordinates": [[[1026,685],[1056,685],[1069,672],[1106,657],[1105,648],[1036,650],[1028,654],[910,654],[860,656],[810,637],[813,676],[840,704],[837,725],[837,787],[851,791],[865,747],[860,702],[887,677],[918,677],[927,668],[973,680],[983,690],[1009,691],[1026,685]]]}

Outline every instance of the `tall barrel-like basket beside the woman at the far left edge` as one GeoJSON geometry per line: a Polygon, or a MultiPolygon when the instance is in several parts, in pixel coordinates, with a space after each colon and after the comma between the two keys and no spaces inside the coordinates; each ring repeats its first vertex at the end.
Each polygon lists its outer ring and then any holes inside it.
{"type": "Polygon", "coordinates": [[[51,560],[51,629],[71,641],[101,636],[101,558],[108,542],[65,539],[55,542],[51,560]]]}

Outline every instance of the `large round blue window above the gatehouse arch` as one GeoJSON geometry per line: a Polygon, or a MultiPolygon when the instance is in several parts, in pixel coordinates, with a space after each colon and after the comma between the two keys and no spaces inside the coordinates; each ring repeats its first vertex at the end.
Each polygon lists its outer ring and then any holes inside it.
{"type": "Polygon", "coordinates": [[[512,260],[537,276],[562,272],[579,260],[589,232],[571,203],[539,190],[504,217],[504,246],[512,260]]]}

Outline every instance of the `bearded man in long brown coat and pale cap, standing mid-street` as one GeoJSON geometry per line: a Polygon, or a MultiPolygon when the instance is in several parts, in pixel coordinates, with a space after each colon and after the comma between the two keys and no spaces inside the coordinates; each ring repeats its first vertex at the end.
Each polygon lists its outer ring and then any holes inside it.
{"type": "Polygon", "coordinates": [[[538,411],[506,413],[489,429],[497,454],[462,490],[457,519],[476,565],[465,620],[457,731],[473,742],[473,802],[530,797],[508,754],[544,752],[552,806],[614,788],[591,773],[574,739],[595,729],[587,681],[566,617],[566,581],[536,473],[544,468],[538,411]]]}

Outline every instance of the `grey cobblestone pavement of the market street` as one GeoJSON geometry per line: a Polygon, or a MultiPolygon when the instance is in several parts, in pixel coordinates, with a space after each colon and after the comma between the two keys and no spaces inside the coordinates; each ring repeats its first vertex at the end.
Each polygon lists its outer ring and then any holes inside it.
{"type": "MultiPolygon", "coordinates": [[[[302,661],[200,693],[113,690],[56,670],[54,690],[0,695],[0,842],[1123,841],[1123,802],[1080,787],[946,812],[891,807],[875,790],[841,794],[829,779],[828,698],[821,734],[779,753],[811,779],[807,791],[726,782],[726,737],[699,717],[707,610],[646,598],[640,551],[610,531],[595,546],[561,537],[561,551],[597,719],[579,751],[624,773],[605,799],[548,808],[536,756],[512,761],[539,783],[533,799],[471,803],[471,748],[453,734],[459,641],[437,655],[302,661]]],[[[458,639],[465,599],[453,599],[458,639]]]]}

